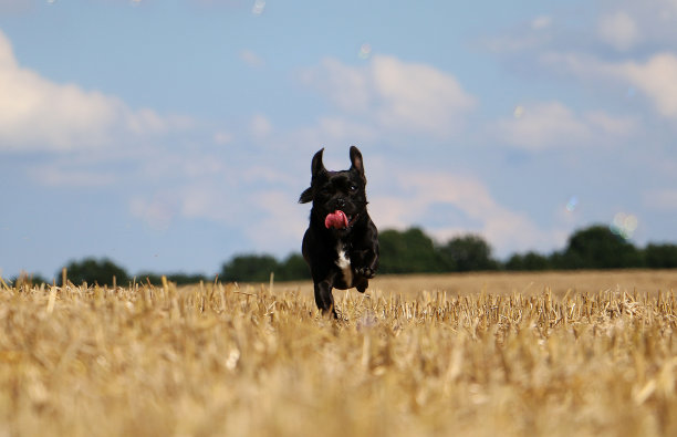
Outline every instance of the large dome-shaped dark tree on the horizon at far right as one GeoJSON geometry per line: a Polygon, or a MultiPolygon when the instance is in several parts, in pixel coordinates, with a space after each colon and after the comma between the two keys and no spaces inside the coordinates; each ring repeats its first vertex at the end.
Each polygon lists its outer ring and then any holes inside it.
{"type": "Polygon", "coordinates": [[[566,249],[553,256],[562,269],[622,269],[642,267],[642,253],[603,225],[575,231],[566,249]]]}

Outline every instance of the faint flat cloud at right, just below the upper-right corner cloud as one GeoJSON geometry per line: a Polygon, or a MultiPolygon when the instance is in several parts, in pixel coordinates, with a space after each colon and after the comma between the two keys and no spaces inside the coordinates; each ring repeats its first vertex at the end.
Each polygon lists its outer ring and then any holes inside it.
{"type": "Polygon", "coordinates": [[[499,119],[494,133],[499,141],[530,150],[610,144],[636,129],[632,117],[614,117],[602,111],[577,115],[560,102],[537,102],[520,106],[512,117],[499,119]]]}

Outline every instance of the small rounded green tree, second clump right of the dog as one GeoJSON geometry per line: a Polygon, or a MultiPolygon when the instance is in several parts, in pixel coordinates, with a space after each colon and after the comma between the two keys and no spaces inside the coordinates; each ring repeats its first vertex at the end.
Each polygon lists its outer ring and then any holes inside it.
{"type": "Polygon", "coordinates": [[[491,247],[476,235],[456,237],[439,248],[441,259],[450,271],[497,270],[498,262],[491,258],[491,247]]]}

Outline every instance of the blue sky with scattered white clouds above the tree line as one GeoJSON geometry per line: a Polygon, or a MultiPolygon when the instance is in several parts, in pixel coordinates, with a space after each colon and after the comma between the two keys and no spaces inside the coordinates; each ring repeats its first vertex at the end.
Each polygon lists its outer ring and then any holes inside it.
{"type": "Polygon", "coordinates": [[[284,257],[351,144],[382,229],[674,242],[675,29],[675,0],[0,0],[0,274],[284,257]]]}

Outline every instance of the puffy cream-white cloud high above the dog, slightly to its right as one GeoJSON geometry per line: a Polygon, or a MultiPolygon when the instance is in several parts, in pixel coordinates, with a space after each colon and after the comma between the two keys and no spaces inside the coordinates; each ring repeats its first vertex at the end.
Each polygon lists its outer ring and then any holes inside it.
{"type": "Polygon", "coordinates": [[[373,56],[366,66],[348,66],[326,59],[304,72],[343,112],[382,132],[448,136],[458,132],[465,115],[477,106],[456,77],[430,65],[394,56],[373,56]]]}

